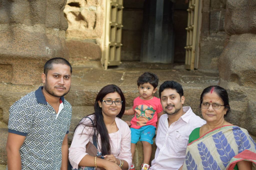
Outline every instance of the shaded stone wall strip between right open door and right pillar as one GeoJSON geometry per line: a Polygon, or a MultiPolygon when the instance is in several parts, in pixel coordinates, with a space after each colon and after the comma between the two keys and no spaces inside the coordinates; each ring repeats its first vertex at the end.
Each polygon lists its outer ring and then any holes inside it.
{"type": "Polygon", "coordinates": [[[226,0],[202,1],[202,25],[198,69],[218,71],[218,58],[225,44],[226,0]]]}

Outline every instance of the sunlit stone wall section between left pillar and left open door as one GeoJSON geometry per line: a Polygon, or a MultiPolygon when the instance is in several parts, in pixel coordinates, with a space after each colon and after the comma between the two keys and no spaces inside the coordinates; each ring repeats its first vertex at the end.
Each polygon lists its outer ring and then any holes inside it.
{"type": "Polygon", "coordinates": [[[66,45],[73,66],[102,67],[100,59],[104,27],[104,2],[68,0],[64,15],[68,21],[66,45]]]}

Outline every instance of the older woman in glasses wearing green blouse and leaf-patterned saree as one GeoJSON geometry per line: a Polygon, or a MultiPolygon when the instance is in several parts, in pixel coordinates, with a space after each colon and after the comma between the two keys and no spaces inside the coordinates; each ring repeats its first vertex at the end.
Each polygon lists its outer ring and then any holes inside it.
{"type": "Polygon", "coordinates": [[[183,169],[252,169],[256,144],[246,129],[225,120],[230,111],[227,91],[205,88],[200,108],[206,124],[191,132],[183,169]]]}

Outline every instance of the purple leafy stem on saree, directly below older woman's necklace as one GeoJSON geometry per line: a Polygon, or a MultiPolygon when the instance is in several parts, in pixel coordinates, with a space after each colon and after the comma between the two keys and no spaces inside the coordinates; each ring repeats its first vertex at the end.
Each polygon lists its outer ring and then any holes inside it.
{"type": "Polygon", "coordinates": [[[215,135],[212,135],[212,138],[215,142],[217,152],[220,155],[220,160],[222,161],[224,167],[226,167],[229,163],[229,160],[233,158],[236,154],[222,132],[218,132],[215,135]]]}

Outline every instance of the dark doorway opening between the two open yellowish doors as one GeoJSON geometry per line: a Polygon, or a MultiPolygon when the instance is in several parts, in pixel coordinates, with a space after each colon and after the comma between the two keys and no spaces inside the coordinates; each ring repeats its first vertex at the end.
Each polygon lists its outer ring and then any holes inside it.
{"type": "Polygon", "coordinates": [[[123,6],[121,61],[185,63],[185,0],[124,0],[123,6]]]}

